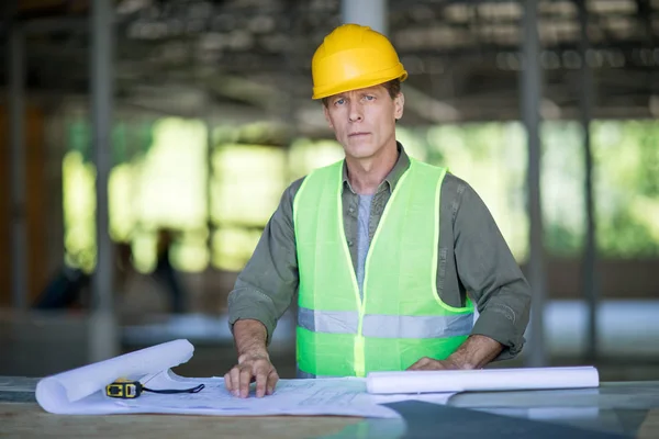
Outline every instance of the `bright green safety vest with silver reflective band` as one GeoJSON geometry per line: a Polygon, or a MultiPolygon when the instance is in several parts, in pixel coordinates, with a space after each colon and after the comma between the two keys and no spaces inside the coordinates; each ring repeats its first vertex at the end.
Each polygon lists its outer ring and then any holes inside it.
{"type": "Polygon", "coordinates": [[[473,304],[437,294],[445,168],[411,159],[369,247],[359,295],[343,224],[343,160],[310,173],[293,201],[301,376],[366,376],[445,359],[469,336],[473,304]]]}

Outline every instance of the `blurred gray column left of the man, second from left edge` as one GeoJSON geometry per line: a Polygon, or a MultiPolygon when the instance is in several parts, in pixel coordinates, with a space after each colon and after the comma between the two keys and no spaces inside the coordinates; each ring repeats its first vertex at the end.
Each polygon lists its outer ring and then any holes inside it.
{"type": "Polygon", "coordinates": [[[90,361],[100,361],[119,353],[119,330],[113,304],[114,260],[108,216],[108,177],[112,167],[113,4],[111,0],[94,0],[90,16],[92,150],[97,168],[97,267],[92,278],[90,361]]]}

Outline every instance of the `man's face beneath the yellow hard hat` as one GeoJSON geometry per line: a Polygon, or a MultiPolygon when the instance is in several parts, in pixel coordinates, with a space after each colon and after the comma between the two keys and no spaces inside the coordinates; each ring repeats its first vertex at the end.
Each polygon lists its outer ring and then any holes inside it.
{"type": "Polygon", "coordinates": [[[325,119],[346,156],[369,158],[395,143],[395,121],[403,115],[404,97],[391,99],[382,86],[347,91],[327,99],[325,119]]]}

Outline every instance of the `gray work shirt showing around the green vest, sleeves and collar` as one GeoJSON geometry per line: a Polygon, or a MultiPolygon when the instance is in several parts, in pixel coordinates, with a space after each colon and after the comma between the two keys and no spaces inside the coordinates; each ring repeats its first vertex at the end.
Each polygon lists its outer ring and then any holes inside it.
{"type": "MultiPolygon", "coordinates": [[[[410,158],[399,144],[399,158],[370,202],[368,238],[372,240],[384,206],[410,158]]],[[[228,322],[256,319],[268,333],[290,306],[298,290],[298,255],[293,229],[293,200],[303,178],[283,192],[266,225],[254,255],[238,274],[228,295],[228,322]]],[[[359,195],[344,165],[343,219],[353,267],[358,272],[359,195]]],[[[447,173],[439,203],[437,292],[450,306],[465,306],[467,294],[479,318],[472,335],[490,337],[504,346],[498,360],[515,357],[524,345],[528,324],[530,288],[499,230],[490,211],[463,180],[447,173]]]]}

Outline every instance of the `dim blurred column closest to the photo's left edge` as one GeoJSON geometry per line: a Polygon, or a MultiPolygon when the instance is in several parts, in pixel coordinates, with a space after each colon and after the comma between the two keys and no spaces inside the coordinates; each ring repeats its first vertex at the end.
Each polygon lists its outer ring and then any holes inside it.
{"type": "MultiPolygon", "coordinates": [[[[15,9],[10,13],[13,14],[15,9]]],[[[25,35],[12,20],[9,35],[9,137],[11,181],[11,296],[16,311],[27,308],[27,217],[25,181],[25,35]]]]}

